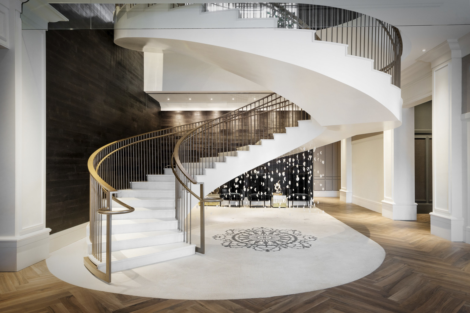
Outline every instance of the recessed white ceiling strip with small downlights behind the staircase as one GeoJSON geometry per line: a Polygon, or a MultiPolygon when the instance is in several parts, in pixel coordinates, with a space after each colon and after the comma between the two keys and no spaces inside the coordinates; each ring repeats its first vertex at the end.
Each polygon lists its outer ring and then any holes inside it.
{"type": "Polygon", "coordinates": [[[269,93],[150,93],[162,111],[232,111],[269,93]]]}

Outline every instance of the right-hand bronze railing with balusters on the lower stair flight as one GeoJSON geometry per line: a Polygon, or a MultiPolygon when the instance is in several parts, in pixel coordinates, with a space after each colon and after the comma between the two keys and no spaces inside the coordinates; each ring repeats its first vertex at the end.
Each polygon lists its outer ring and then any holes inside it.
{"type": "Polygon", "coordinates": [[[298,121],[309,120],[310,115],[297,105],[277,94],[271,94],[248,106],[204,122],[178,140],[171,162],[176,176],[176,210],[180,230],[191,242],[191,211],[200,203],[200,246],[196,251],[204,253],[204,202],[220,201],[205,198],[204,185],[197,175],[225,156],[235,156],[237,151],[249,150],[249,145],[261,145],[262,139],[273,139],[274,133],[285,133],[286,127],[298,126],[298,121]],[[173,164],[176,166],[173,167],[173,164]],[[199,185],[196,191],[193,188],[199,185]]]}

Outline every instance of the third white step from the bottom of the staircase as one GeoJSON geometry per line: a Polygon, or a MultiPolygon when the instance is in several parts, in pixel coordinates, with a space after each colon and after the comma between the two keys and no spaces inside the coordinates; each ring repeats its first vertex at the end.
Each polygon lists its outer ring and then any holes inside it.
{"type": "MultiPolygon", "coordinates": [[[[111,234],[135,233],[139,231],[153,231],[164,229],[177,229],[178,221],[173,217],[158,219],[112,220],[111,234]]],[[[89,236],[89,229],[86,229],[89,236]]],[[[102,232],[106,232],[106,220],[102,221],[102,232]]]]}

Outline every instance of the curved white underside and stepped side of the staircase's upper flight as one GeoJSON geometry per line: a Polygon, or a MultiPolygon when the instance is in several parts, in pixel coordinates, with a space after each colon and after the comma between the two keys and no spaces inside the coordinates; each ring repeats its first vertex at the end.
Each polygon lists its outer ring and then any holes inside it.
{"type": "Polygon", "coordinates": [[[198,27],[272,23],[237,19],[234,11],[200,13],[196,5],[161,10],[164,14],[135,7],[118,12],[115,43],[139,51],[169,50],[211,63],[281,94],[323,126],[401,119],[400,89],[390,84],[389,75],[373,69],[372,60],[347,55],[346,45],[313,41],[313,31],[305,30],[156,29],[188,19],[198,27]]]}

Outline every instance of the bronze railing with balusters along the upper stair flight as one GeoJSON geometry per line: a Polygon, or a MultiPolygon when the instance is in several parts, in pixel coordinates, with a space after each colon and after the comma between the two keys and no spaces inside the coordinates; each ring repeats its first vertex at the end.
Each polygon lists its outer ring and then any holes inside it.
{"type": "MultiPolygon", "coordinates": [[[[180,4],[181,5],[181,4],[180,4]]],[[[359,12],[304,3],[205,3],[204,11],[238,9],[239,18],[278,19],[278,28],[315,31],[315,39],[348,45],[348,53],[374,60],[374,69],[392,76],[400,87],[399,30],[389,23],[359,12]]]]}

